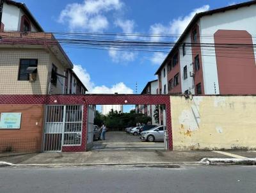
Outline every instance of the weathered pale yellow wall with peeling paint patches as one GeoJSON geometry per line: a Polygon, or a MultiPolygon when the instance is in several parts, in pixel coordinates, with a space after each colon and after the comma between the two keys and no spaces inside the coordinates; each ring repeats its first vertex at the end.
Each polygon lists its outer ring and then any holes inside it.
{"type": "Polygon", "coordinates": [[[170,97],[173,150],[256,148],[256,96],[170,97]]]}

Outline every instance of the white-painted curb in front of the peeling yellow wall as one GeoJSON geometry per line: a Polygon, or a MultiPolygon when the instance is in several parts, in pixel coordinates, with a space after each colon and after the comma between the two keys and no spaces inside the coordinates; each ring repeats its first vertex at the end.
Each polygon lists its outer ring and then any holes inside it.
{"type": "Polygon", "coordinates": [[[256,158],[202,158],[204,165],[256,165],[256,158]]]}

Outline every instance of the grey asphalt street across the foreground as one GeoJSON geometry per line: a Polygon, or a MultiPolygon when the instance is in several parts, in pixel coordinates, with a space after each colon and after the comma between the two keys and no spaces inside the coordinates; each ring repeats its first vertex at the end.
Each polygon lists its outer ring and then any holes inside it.
{"type": "Polygon", "coordinates": [[[255,192],[255,166],[2,167],[0,192],[255,192]]]}

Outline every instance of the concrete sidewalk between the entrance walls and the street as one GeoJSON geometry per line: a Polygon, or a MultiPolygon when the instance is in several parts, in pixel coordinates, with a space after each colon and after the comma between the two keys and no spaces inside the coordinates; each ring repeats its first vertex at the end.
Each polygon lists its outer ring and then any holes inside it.
{"type": "MultiPolygon", "coordinates": [[[[90,166],[90,165],[139,165],[139,164],[205,164],[214,160],[254,160],[256,152],[251,151],[87,151],[81,153],[29,153],[0,154],[0,162],[10,162],[18,166],[90,166]],[[224,152],[224,153],[223,153],[224,152]],[[236,153],[236,154],[234,154],[236,153]],[[227,154],[227,155],[225,155],[227,154]],[[247,157],[244,157],[247,155],[247,157]],[[250,156],[248,156],[250,155],[250,156]],[[252,159],[253,158],[253,159],[252,159]]],[[[227,162],[230,164],[230,162],[227,162]]],[[[250,163],[249,163],[250,164],[250,163]]]]}

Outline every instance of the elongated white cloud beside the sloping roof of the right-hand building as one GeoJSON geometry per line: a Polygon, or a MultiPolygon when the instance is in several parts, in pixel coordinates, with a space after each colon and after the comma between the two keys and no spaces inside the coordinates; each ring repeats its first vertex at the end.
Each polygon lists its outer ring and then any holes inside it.
{"type": "Polygon", "coordinates": [[[209,8],[209,5],[204,5],[200,8],[196,8],[195,10],[193,10],[193,12],[189,13],[189,15],[186,15],[185,17],[173,19],[172,22],[170,22],[170,33],[181,35],[196,13],[206,12],[209,10],[209,8]]]}

